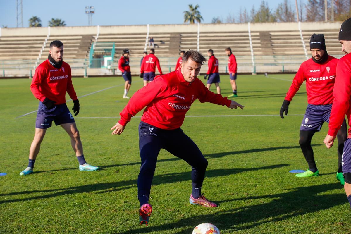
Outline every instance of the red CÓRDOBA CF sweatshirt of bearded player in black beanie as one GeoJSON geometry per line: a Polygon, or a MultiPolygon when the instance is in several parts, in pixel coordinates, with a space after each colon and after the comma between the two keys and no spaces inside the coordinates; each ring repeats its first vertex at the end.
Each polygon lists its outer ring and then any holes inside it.
{"type": "Polygon", "coordinates": [[[312,105],[327,105],[333,102],[333,88],[336,65],[339,59],[328,55],[323,64],[313,62],[312,58],[304,61],[297,71],[285,100],[291,101],[302,83],[306,80],[307,102],[312,105]]]}

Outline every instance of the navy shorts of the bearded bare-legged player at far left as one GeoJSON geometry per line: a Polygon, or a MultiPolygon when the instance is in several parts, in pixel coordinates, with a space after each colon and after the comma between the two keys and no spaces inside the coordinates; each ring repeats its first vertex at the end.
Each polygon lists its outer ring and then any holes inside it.
{"type": "Polygon", "coordinates": [[[35,121],[35,128],[49,128],[52,121],[58,126],[62,123],[74,123],[74,118],[69,112],[66,103],[54,106],[48,109],[42,102],[39,102],[37,120],[35,121]]]}

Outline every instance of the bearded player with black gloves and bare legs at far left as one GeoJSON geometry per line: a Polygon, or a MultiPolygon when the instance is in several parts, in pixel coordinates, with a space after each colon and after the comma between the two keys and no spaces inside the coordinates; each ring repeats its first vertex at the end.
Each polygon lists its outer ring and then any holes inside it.
{"type": "Polygon", "coordinates": [[[33,172],[40,144],[44,139],[46,129],[51,127],[52,121],[56,125],[61,125],[71,137],[71,145],[79,161],[79,171],[95,171],[99,168],[86,163],[77,126],[66,106],[67,91],[74,103],[72,108],[74,116],[78,115],[79,101],[72,85],[71,67],[62,61],[63,53],[64,45],[62,42],[52,41],[48,59],[35,69],[31,91],[40,102],[35,122],[34,140],[29,150],[28,167],[20,175],[28,175],[33,172]]]}

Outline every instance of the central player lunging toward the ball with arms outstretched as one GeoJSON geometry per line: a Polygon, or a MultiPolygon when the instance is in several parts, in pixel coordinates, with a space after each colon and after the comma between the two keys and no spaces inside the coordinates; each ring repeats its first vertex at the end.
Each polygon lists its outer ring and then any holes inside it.
{"type": "Polygon", "coordinates": [[[207,160],[196,144],[180,129],[186,112],[192,103],[211,102],[229,108],[240,107],[237,102],[214,94],[197,78],[201,65],[206,61],[197,51],[188,51],[178,71],[157,76],[147,86],[139,89],[120,113],[121,119],[111,128],[113,134],[121,134],[132,116],[145,108],[139,124],[139,148],[141,167],[138,176],[139,222],[147,224],[152,206],[148,203],[151,182],[161,148],[185,160],[192,167],[191,204],[216,207],[201,195],[207,160]]]}

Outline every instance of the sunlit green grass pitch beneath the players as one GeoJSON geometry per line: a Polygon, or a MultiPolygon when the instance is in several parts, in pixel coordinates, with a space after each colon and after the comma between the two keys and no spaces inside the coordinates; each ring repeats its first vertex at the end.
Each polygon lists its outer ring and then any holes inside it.
{"type": "MultiPolygon", "coordinates": [[[[140,118],[133,118],[122,135],[110,131],[127,103],[122,99],[124,80],[73,79],[78,96],[117,86],[80,98],[75,118],[85,158],[101,170],[80,172],[68,135],[53,126],[28,176],[19,173],[27,167],[36,113],[16,117],[37,109],[38,100],[29,90],[31,80],[0,80],[0,172],[7,173],[0,176],[0,233],[190,234],[204,222],[215,224],[223,234],[351,233],[350,206],[336,180],[337,148],[323,145],[327,124],[312,139],[320,176],[297,178],[289,173],[307,169],[298,145],[307,105],[305,85],[288,115],[275,116],[292,78],[238,75],[235,100],[244,110],[194,102],[182,129],[208,160],[202,191],[219,207],[190,205],[190,166],[162,150],[147,227],[138,224],[140,118]],[[194,115],[198,117],[190,117],[194,115]]],[[[229,95],[229,77],[221,76],[221,81],[223,95],[229,95]]],[[[141,79],[133,77],[130,95],[141,86],[141,79]]],[[[67,105],[72,108],[72,101],[67,105]]]]}

